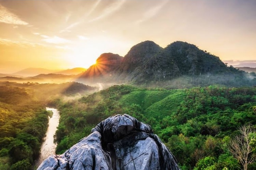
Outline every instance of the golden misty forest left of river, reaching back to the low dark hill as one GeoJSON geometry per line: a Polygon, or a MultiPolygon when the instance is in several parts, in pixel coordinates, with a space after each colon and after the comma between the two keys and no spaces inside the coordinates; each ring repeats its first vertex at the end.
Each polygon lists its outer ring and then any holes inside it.
{"type": "Polygon", "coordinates": [[[0,82],[0,170],[31,170],[48,127],[46,104],[95,91],[81,83],[0,82]]]}

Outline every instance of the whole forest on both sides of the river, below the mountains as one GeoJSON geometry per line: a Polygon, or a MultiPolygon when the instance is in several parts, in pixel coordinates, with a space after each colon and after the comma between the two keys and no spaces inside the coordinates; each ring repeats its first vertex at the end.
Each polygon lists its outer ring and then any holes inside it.
{"type": "MultiPolygon", "coordinates": [[[[89,135],[107,117],[129,114],[153,128],[183,170],[243,169],[229,146],[240,127],[256,125],[256,87],[116,85],[87,95],[93,91],[95,88],[73,82],[1,82],[0,170],[32,169],[48,126],[46,104],[60,111],[57,154],[89,135]],[[82,93],[78,99],[66,98],[78,93],[82,93]]],[[[251,156],[256,154],[256,133],[249,137],[254,139],[251,156]]],[[[255,163],[248,166],[249,170],[255,168],[255,163]]]]}

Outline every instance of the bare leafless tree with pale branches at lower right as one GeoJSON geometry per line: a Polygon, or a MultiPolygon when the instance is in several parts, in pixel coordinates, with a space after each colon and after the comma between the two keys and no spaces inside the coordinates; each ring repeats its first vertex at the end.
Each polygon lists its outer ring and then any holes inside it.
{"type": "Polygon", "coordinates": [[[242,164],[244,170],[248,165],[256,160],[256,154],[253,153],[252,143],[256,140],[254,128],[251,125],[239,128],[240,135],[231,139],[228,149],[233,156],[242,164]]]}

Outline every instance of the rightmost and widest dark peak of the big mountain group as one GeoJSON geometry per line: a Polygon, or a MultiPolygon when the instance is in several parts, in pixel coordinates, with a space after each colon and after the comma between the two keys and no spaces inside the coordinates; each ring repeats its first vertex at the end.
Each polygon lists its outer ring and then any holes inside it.
{"type": "Polygon", "coordinates": [[[229,68],[218,57],[198,49],[193,44],[178,41],[144,60],[137,72],[140,75],[136,79],[143,82],[170,80],[184,75],[229,72],[229,68]]]}

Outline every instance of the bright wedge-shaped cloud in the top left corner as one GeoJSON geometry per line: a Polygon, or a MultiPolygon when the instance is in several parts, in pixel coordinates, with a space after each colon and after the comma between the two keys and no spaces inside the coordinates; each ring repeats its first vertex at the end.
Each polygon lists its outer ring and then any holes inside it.
{"type": "Polygon", "coordinates": [[[6,7],[0,5],[0,22],[15,25],[28,25],[27,22],[22,21],[17,15],[10,12],[6,7]]]}

